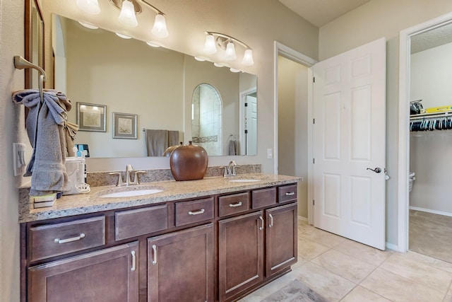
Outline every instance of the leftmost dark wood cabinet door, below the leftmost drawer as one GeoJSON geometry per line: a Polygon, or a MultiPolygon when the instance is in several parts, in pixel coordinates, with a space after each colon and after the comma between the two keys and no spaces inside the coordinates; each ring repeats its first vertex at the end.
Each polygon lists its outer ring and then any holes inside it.
{"type": "Polygon", "coordinates": [[[28,301],[138,301],[138,241],[29,268],[28,301]]]}

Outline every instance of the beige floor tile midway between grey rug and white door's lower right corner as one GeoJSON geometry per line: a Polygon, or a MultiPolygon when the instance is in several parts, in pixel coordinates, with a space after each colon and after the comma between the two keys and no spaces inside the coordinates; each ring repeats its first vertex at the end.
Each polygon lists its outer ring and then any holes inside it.
{"type": "Polygon", "coordinates": [[[311,262],[355,284],[359,284],[376,269],[375,265],[369,265],[367,262],[345,255],[337,250],[328,250],[311,260],[311,262]]]}

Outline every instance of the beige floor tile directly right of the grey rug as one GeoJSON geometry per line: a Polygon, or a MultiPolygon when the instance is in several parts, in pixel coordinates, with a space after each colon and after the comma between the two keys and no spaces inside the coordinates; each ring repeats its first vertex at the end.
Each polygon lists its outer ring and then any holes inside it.
{"type": "Polygon", "coordinates": [[[331,302],[340,301],[355,287],[353,282],[311,262],[302,265],[293,273],[300,281],[331,302]]]}

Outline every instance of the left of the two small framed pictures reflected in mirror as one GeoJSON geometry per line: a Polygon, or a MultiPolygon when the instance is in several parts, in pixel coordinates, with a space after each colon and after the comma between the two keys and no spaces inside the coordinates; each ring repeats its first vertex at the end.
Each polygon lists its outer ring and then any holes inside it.
{"type": "Polygon", "coordinates": [[[79,131],[106,132],[106,105],[77,102],[77,124],[79,131]]]}

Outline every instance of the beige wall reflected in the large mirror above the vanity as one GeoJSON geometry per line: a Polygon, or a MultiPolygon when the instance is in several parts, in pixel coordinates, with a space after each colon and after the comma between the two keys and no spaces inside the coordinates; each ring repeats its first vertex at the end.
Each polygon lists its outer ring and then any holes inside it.
{"type": "Polygon", "coordinates": [[[251,117],[245,113],[246,97],[254,95],[256,99],[256,76],[233,73],[100,28],[85,28],[57,15],[52,16],[52,50],[54,88],[64,91],[73,103],[69,122],[77,123],[80,106],[76,103],[105,106],[105,127],[88,127],[76,135],[76,144],[88,144],[90,157],[148,156],[145,129],[176,131],[179,141],[187,144],[195,138],[196,144],[202,146],[206,138],[184,126],[194,118],[193,112],[184,109],[189,108],[184,102],[191,104],[196,87],[204,83],[213,86],[222,100],[222,116],[218,120],[221,132],[217,138],[221,146],[209,155],[230,155],[231,141],[236,141],[237,155],[256,155],[256,149],[246,151],[241,146],[247,140],[256,145],[256,129],[248,134],[251,117]],[[136,127],[132,129],[136,138],[114,138],[118,136],[113,128],[113,112],[116,116],[136,115],[136,127]]]}

